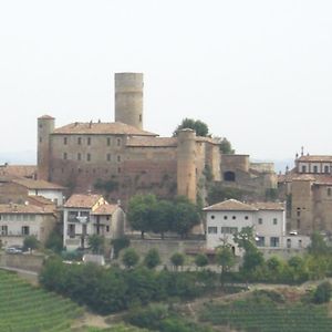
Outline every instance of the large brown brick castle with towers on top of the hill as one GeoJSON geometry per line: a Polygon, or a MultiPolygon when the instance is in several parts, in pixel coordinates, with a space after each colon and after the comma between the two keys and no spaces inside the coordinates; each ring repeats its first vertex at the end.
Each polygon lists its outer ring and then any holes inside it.
{"type": "Polygon", "coordinates": [[[102,190],[108,200],[127,201],[138,193],[160,197],[206,196],[209,180],[266,190],[277,187],[273,167],[249,156],[222,155],[220,141],[193,129],[159,137],[143,126],[143,74],[115,74],[115,122],[71,123],[38,118],[38,178],[71,193],[102,190]]]}

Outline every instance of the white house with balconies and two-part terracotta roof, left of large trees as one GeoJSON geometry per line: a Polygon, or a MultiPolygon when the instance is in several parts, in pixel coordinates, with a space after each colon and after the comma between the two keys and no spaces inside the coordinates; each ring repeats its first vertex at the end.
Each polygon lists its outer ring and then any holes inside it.
{"type": "Polygon", "coordinates": [[[63,206],[63,246],[68,250],[89,247],[89,236],[114,239],[124,234],[125,215],[120,205],[103,196],[74,194],[63,206]]]}

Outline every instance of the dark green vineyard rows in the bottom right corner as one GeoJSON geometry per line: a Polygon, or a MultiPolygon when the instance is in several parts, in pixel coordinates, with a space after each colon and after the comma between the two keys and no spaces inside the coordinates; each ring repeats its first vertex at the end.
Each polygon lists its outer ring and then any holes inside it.
{"type": "Polygon", "coordinates": [[[250,295],[227,304],[206,305],[200,319],[214,325],[249,332],[330,332],[328,305],[280,303],[250,295]]]}

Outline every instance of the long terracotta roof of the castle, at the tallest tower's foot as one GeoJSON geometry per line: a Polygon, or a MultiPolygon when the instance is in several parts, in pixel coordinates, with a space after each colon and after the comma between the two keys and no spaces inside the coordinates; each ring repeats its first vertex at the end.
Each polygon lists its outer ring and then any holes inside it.
{"type": "Polygon", "coordinates": [[[121,122],[113,123],[82,123],[75,122],[63,127],[56,128],[52,134],[76,134],[76,135],[137,135],[137,136],[158,136],[157,134],[141,131],[121,122]]]}

